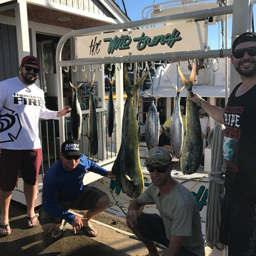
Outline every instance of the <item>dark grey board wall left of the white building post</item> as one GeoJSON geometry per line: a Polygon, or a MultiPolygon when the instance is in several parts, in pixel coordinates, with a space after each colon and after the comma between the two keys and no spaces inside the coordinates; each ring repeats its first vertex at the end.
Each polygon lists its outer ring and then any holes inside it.
{"type": "Polygon", "coordinates": [[[16,27],[0,23],[0,81],[17,76],[19,59],[16,27]]]}

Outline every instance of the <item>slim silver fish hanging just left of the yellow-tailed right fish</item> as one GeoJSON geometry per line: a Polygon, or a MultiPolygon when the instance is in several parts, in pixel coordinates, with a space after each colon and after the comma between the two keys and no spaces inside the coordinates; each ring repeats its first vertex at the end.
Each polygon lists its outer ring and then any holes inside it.
{"type": "Polygon", "coordinates": [[[183,90],[183,88],[184,86],[180,90],[178,90],[178,86],[175,85],[177,96],[170,123],[170,140],[172,145],[172,151],[177,158],[180,158],[183,146],[183,124],[180,113],[180,92],[183,90]]]}

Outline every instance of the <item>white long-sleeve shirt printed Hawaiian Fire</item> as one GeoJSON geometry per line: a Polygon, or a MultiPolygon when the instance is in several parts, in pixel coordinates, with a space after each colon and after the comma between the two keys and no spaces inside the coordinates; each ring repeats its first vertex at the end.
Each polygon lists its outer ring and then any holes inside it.
{"type": "Polygon", "coordinates": [[[0,82],[0,148],[41,148],[39,118],[58,119],[57,113],[45,108],[44,91],[35,84],[18,77],[0,82]]]}

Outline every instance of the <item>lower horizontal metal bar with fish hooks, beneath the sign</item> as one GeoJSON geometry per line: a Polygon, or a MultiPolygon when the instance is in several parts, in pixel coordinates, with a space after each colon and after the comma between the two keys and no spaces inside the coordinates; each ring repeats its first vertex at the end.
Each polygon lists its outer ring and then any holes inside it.
{"type": "Polygon", "coordinates": [[[221,54],[221,50],[203,50],[203,51],[191,51],[191,52],[171,52],[171,53],[159,53],[159,54],[148,54],[148,55],[136,55],[136,56],[123,56],[113,58],[86,58],[76,60],[65,60],[62,61],[63,66],[74,66],[86,64],[106,64],[106,63],[123,63],[123,62],[138,62],[138,61],[160,61],[160,60],[188,60],[188,59],[200,59],[200,58],[217,58],[217,57],[229,57],[231,49],[224,49],[221,54]]]}

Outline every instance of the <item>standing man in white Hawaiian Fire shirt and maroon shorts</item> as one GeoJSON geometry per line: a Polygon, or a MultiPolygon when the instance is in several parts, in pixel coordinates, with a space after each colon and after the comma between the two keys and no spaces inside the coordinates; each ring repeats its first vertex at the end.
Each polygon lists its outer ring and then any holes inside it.
{"type": "Polygon", "coordinates": [[[38,225],[34,207],[42,162],[39,118],[58,119],[71,111],[69,106],[59,112],[45,108],[44,91],[34,84],[39,68],[36,57],[26,56],[21,61],[18,77],[0,82],[0,236],[12,233],[9,206],[19,172],[24,181],[28,227],[38,225]]]}

